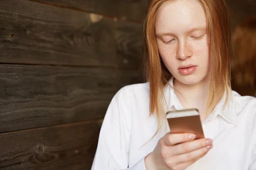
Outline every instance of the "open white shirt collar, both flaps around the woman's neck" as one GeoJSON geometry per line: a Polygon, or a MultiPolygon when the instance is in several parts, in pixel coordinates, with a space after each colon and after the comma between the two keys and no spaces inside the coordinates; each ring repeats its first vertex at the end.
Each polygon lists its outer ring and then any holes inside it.
{"type": "MultiPolygon", "coordinates": [[[[174,88],[173,88],[173,80],[172,77],[169,80],[169,85],[166,86],[164,89],[164,94],[166,97],[166,102],[168,106],[168,111],[175,111],[175,110],[182,110],[184,107],[181,105],[179,99],[177,98],[174,88]]],[[[214,108],[212,113],[209,114],[206,122],[214,119],[216,116],[221,116],[227,122],[232,123],[233,125],[237,125],[237,115],[233,106],[233,93],[231,88],[228,89],[229,97],[227,100],[227,104],[225,105],[227,91],[224,93],[223,97],[221,98],[220,102],[218,102],[217,106],[214,108]]]]}

